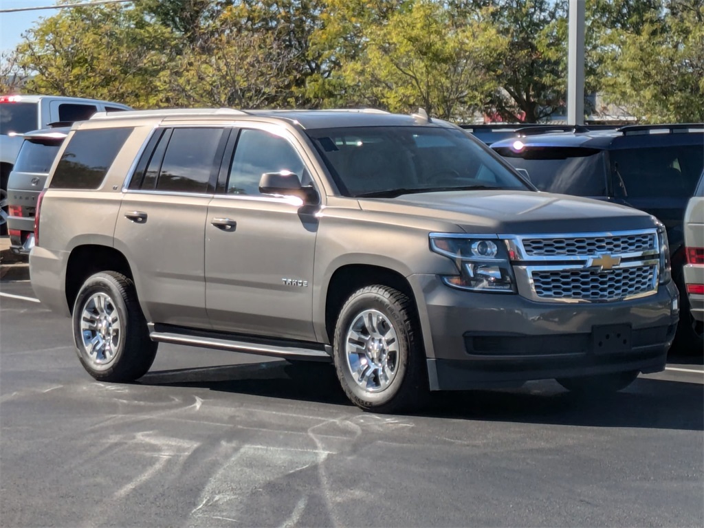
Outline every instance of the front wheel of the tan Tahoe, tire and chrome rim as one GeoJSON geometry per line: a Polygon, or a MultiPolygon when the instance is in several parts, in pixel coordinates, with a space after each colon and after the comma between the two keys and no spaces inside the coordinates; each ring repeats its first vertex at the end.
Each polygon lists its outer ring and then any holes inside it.
{"type": "Polygon", "coordinates": [[[337,377],[356,406],[394,413],[418,406],[427,394],[425,354],[406,294],[386,286],[353,293],[340,310],[334,335],[337,377]]]}

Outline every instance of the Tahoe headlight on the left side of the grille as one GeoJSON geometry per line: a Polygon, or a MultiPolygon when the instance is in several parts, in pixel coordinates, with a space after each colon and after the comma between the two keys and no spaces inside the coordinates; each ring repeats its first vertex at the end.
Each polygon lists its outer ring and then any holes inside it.
{"type": "Polygon", "coordinates": [[[505,246],[491,235],[430,234],[430,249],[454,260],[458,275],[445,275],[450,287],[470,291],[515,293],[515,279],[505,246]]]}

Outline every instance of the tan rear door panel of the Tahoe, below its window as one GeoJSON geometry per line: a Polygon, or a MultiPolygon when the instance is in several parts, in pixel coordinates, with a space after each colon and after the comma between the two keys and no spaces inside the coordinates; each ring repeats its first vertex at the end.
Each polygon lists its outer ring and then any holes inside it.
{"type": "Polygon", "coordinates": [[[210,327],[203,269],[210,198],[128,192],[122,199],[115,243],[130,260],[149,322],[210,327]]]}

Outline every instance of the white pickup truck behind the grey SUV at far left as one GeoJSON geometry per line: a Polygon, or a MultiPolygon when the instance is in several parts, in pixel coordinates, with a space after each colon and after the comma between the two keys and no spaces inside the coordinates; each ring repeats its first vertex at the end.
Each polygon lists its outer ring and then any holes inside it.
{"type": "MultiPolygon", "coordinates": [[[[0,194],[8,191],[8,179],[23,143],[23,134],[51,123],[74,122],[96,112],[121,112],[129,106],[111,101],[56,95],[0,95],[0,194]]],[[[31,190],[31,189],[30,189],[31,190]]],[[[8,201],[13,205],[12,199],[8,201]]],[[[8,214],[3,204],[4,217],[8,214]]],[[[6,225],[0,225],[5,234],[6,225]]]]}

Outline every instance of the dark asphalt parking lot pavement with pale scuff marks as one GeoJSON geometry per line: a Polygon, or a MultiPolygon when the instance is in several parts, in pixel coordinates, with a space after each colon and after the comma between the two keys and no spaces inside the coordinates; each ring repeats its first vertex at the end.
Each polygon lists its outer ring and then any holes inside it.
{"type": "Polygon", "coordinates": [[[704,524],[700,357],[606,400],[536,382],[374,415],[329,365],[196,348],[95,382],[68,319],[0,294],[3,527],[704,524]]]}

